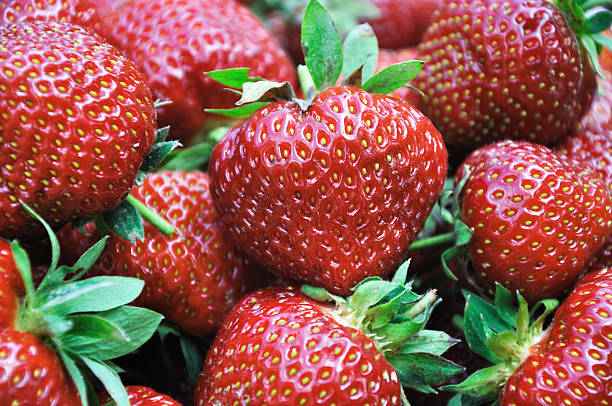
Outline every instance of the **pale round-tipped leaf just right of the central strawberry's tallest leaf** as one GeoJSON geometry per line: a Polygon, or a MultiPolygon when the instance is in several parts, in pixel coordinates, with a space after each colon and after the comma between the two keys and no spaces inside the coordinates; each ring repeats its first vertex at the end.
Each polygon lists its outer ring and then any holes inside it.
{"type": "Polygon", "coordinates": [[[345,78],[361,67],[362,81],[374,74],[378,62],[378,40],[369,24],[358,25],[349,32],[344,40],[343,54],[342,76],[345,78]]]}

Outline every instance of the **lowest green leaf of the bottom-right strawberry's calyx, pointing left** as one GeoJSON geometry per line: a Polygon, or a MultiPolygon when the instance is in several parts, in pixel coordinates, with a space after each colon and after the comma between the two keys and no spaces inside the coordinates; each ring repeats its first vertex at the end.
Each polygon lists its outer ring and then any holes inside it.
{"type": "Polygon", "coordinates": [[[447,385],[442,389],[474,397],[497,396],[511,373],[506,364],[496,364],[476,371],[458,385],[447,385]]]}

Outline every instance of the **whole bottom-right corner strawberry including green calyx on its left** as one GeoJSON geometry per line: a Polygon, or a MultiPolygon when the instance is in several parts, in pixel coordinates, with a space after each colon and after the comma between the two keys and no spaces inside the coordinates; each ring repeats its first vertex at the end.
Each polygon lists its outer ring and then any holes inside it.
{"type": "Polygon", "coordinates": [[[529,325],[519,297],[498,286],[495,304],[467,295],[465,333],[472,350],[495,365],[447,389],[460,392],[457,404],[501,406],[606,405],[612,399],[612,270],[587,275],[542,331],[556,301],[529,325]],[[499,393],[499,395],[498,395],[499,393]]]}

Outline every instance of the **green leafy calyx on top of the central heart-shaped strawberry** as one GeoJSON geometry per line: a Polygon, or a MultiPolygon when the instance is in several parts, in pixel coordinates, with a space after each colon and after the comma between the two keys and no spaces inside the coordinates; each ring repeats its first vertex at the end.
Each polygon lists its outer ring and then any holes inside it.
{"type": "Polygon", "coordinates": [[[318,0],[310,0],[302,23],[302,49],[305,67],[298,74],[306,100],[298,99],[291,84],[249,77],[248,68],[233,68],[205,73],[209,78],[241,95],[233,109],[207,109],[207,112],[244,118],[274,101],[291,101],[306,110],[317,93],[342,84],[360,87],[369,93],[391,93],[405,86],[420,72],[423,61],[407,61],[374,73],[378,60],[378,41],[372,28],[354,27],[344,43],[336,24],[318,0]]]}

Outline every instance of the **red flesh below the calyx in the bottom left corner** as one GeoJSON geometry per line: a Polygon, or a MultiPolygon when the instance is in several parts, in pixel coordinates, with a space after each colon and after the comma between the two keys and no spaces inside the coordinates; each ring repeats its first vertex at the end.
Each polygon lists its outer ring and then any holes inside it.
{"type": "Polygon", "coordinates": [[[2,329],[0,404],[80,406],[81,401],[51,348],[30,333],[2,329]]]}

